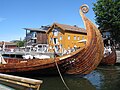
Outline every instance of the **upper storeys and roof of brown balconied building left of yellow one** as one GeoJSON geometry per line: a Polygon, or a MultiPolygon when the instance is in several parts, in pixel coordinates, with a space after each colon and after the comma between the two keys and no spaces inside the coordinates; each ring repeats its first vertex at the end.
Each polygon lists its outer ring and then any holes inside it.
{"type": "Polygon", "coordinates": [[[41,28],[24,28],[26,30],[26,46],[37,44],[47,44],[46,31],[49,26],[42,26],[41,28]]]}

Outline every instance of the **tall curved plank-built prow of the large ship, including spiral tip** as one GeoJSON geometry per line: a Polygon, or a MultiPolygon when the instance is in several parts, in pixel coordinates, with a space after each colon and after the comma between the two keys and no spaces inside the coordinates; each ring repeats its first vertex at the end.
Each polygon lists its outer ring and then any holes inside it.
{"type": "Polygon", "coordinates": [[[97,27],[84,15],[88,10],[86,4],[80,7],[80,15],[87,30],[86,46],[72,57],[75,62],[68,69],[68,74],[88,74],[97,68],[103,58],[104,45],[102,36],[97,27]]]}

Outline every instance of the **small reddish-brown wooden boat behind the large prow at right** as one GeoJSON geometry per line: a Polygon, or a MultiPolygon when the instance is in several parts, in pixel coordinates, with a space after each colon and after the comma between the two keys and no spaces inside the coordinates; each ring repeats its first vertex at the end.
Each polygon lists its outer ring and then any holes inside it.
{"type": "Polygon", "coordinates": [[[101,65],[114,65],[117,60],[116,50],[112,47],[111,52],[108,54],[104,54],[102,61],[100,62],[101,65]]]}

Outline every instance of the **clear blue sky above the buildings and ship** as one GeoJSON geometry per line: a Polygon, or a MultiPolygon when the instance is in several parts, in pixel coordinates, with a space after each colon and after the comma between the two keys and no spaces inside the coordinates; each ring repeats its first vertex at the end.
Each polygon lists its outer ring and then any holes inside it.
{"type": "Polygon", "coordinates": [[[95,22],[92,10],[96,0],[0,0],[0,41],[20,40],[23,28],[40,28],[54,22],[84,28],[79,15],[82,4],[89,6],[86,16],[95,22]]]}

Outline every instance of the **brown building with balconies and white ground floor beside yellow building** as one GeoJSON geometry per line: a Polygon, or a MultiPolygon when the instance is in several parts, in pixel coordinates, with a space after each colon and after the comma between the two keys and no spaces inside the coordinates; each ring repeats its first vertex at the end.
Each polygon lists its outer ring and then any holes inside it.
{"type": "Polygon", "coordinates": [[[41,26],[41,28],[24,28],[26,30],[25,49],[26,52],[47,52],[48,42],[46,31],[50,26],[41,26]]]}

